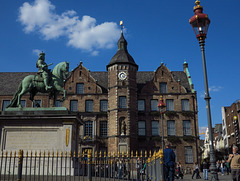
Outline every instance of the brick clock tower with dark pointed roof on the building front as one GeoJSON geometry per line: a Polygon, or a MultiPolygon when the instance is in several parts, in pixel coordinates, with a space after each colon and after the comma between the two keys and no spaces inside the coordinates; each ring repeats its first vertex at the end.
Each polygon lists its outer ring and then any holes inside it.
{"type": "Polygon", "coordinates": [[[127,50],[121,32],[118,50],[107,65],[108,71],[108,151],[136,150],[138,65],[127,50]]]}

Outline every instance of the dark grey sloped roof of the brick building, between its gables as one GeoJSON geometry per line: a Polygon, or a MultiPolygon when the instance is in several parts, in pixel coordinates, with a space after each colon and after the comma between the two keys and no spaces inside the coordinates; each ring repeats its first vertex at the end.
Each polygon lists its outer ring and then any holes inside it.
{"type": "MultiPolygon", "coordinates": [[[[191,92],[188,84],[187,76],[181,71],[172,71],[173,78],[191,92]]],[[[18,85],[24,77],[28,75],[36,75],[37,72],[0,72],[0,95],[13,95],[18,85]]],[[[97,84],[107,93],[108,89],[108,72],[90,72],[91,76],[97,81],[97,84]]],[[[137,72],[137,86],[141,90],[143,86],[153,80],[154,72],[137,72]]]]}

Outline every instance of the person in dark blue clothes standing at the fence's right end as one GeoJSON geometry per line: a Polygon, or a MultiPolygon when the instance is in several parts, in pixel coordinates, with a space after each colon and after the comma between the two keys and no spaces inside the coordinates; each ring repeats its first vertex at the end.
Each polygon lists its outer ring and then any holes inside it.
{"type": "Polygon", "coordinates": [[[164,155],[164,178],[165,181],[174,181],[175,153],[170,148],[170,143],[165,143],[164,155]]]}

